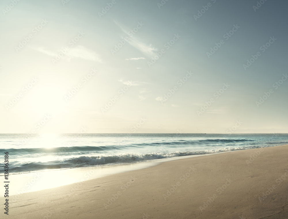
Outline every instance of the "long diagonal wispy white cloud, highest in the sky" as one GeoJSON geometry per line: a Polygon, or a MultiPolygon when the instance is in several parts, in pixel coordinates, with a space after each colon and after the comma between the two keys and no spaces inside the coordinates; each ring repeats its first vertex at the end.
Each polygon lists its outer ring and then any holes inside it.
{"type": "Polygon", "coordinates": [[[156,54],[154,53],[155,51],[157,51],[158,49],[155,48],[152,44],[146,45],[145,43],[142,43],[139,39],[137,39],[136,37],[134,37],[134,35],[132,37],[129,36],[126,27],[124,27],[124,25],[120,24],[119,22],[116,22],[114,20],[114,23],[120,27],[120,29],[123,31],[123,33],[125,33],[126,36],[125,38],[127,39],[127,42],[132,45],[134,48],[140,50],[143,54],[147,55],[147,56],[155,56],[156,54]]]}

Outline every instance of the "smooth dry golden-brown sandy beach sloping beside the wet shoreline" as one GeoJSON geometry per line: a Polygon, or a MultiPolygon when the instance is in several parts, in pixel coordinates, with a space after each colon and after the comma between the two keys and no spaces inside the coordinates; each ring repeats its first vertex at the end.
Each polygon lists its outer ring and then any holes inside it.
{"type": "Polygon", "coordinates": [[[287,155],[233,151],[24,193],[9,218],[287,218],[287,155]]]}

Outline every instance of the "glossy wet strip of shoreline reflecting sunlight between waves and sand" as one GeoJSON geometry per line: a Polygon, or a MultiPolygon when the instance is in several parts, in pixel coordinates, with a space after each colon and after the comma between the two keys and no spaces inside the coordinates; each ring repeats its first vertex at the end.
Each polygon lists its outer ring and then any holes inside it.
{"type": "MultiPolygon", "coordinates": [[[[269,146],[275,147],[275,146],[269,146]]],[[[269,148],[263,147],[263,148],[269,148]]],[[[253,148],[259,149],[262,148],[253,148]]],[[[101,178],[104,176],[109,176],[118,173],[130,172],[133,170],[141,170],[149,168],[152,166],[159,165],[161,163],[181,160],[181,159],[190,159],[193,157],[202,157],[209,155],[217,155],[222,153],[231,153],[237,151],[246,151],[253,149],[239,149],[232,151],[222,151],[217,153],[206,153],[198,155],[187,155],[181,157],[170,157],[164,159],[155,159],[155,160],[146,160],[141,162],[134,163],[119,163],[119,164],[110,164],[110,165],[97,165],[97,166],[88,166],[88,167],[77,167],[77,168],[67,168],[67,169],[52,169],[52,170],[40,170],[33,172],[24,172],[24,173],[14,173],[11,174],[11,181],[14,187],[14,191],[11,192],[11,195],[19,195],[22,193],[41,191],[49,188],[56,188],[59,186],[65,186],[73,183],[79,183],[87,180],[92,180],[96,178],[101,178]],[[74,177],[74,176],[78,177],[74,177]],[[55,182],[51,180],[52,177],[56,177],[58,180],[55,182]],[[13,182],[17,182],[14,184],[13,182]]]]}

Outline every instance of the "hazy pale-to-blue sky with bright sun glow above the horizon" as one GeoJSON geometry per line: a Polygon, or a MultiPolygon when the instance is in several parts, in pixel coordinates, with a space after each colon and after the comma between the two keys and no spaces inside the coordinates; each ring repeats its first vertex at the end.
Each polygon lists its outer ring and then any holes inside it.
{"type": "Polygon", "coordinates": [[[287,6],[3,0],[0,133],[288,133],[287,6]]]}

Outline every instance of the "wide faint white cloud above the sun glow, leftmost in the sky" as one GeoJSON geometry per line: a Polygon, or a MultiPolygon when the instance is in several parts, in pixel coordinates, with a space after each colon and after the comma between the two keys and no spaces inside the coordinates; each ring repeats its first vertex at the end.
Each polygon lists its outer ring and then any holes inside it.
{"type": "MultiPolygon", "coordinates": [[[[46,54],[48,56],[54,56],[58,55],[61,51],[53,52],[47,49],[44,49],[42,47],[35,48],[38,52],[41,52],[43,54],[46,54]]],[[[71,60],[71,58],[81,58],[96,62],[102,62],[99,55],[96,54],[96,52],[92,51],[91,49],[87,49],[84,46],[78,45],[76,47],[70,48],[65,55],[62,57],[63,59],[66,59],[68,61],[71,60]]]]}

